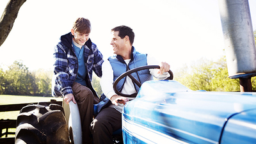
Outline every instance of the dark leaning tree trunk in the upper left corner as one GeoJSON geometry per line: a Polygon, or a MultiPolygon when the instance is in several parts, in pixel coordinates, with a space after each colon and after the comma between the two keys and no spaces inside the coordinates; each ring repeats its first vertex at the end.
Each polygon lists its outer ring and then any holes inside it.
{"type": "Polygon", "coordinates": [[[0,19],[0,46],[4,43],[4,40],[6,40],[12,30],[13,23],[17,18],[20,7],[25,2],[26,0],[10,0],[6,5],[0,19]]]}

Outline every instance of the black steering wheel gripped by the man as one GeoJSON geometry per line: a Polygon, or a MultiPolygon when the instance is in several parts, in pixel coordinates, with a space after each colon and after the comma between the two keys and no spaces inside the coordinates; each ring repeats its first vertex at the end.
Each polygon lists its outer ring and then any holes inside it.
{"type": "MultiPolygon", "coordinates": [[[[113,89],[115,91],[115,93],[117,95],[121,95],[121,96],[124,96],[124,97],[136,97],[137,93],[132,93],[131,95],[127,95],[127,94],[124,94],[124,93],[121,93],[119,92],[117,89],[116,89],[116,85],[118,84],[118,82],[126,77],[126,76],[129,76],[132,81],[137,84],[139,87],[141,86],[141,83],[139,81],[137,81],[137,79],[135,79],[133,76],[131,76],[132,73],[134,72],[138,72],[140,70],[145,70],[145,69],[152,69],[152,68],[160,68],[159,65],[146,65],[146,66],[142,66],[142,67],[138,67],[138,68],[133,68],[131,70],[128,70],[127,72],[124,72],[124,74],[121,74],[119,77],[117,77],[117,79],[115,80],[114,84],[113,84],[113,89]]],[[[167,77],[166,79],[164,80],[172,80],[173,79],[173,73],[171,70],[168,71],[168,73],[170,74],[170,77],[167,77]]]]}

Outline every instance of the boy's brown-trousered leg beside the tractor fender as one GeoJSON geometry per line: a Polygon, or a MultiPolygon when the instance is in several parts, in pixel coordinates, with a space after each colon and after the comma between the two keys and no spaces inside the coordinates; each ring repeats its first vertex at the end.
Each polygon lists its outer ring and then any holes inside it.
{"type": "Polygon", "coordinates": [[[90,124],[93,119],[93,93],[86,86],[76,82],[73,84],[72,90],[81,117],[83,143],[92,143],[90,124]]]}

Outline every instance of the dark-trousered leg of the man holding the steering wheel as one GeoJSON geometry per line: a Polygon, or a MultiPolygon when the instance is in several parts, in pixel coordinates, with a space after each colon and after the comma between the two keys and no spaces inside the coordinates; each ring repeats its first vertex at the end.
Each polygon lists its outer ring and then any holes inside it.
{"type": "Polygon", "coordinates": [[[115,108],[104,108],[91,124],[93,143],[113,143],[112,134],[122,127],[122,113],[115,108]]]}

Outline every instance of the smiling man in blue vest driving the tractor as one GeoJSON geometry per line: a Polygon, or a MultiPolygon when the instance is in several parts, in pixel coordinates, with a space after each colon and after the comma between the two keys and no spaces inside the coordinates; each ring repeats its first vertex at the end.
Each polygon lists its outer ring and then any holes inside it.
{"type": "MultiPolygon", "coordinates": [[[[111,45],[116,55],[109,57],[108,61],[104,61],[102,64],[100,86],[102,92],[111,100],[112,104],[108,108],[102,109],[91,124],[93,143],[113,143],[112,133],[122,127],[122,108],[129,99],[134,99],[116,95],[113,90],[115,79],[129,69],[145,65],[156,65],[157,63],[154,58],[147,56],[147,54],[137,52],[134,49],[132,46],[134,32],[131,28],[118,26],[111,29],[111,32],[113,36],[111,45]]],[[[170,70],[168,63],[162,62],[160,67],[159,70],[143,70],[143,72],[138,72],[135,78],[140,79],[140,82],[143,83],[152,80],[152,75],[159,79],[165,79],[170,76],[168,74],[168,70],[170,70]]],[[[138,87],[134,86],[129,77],[121,80],[116,85],[116,88],[124,94],[138,92],[138,87]]]]}

